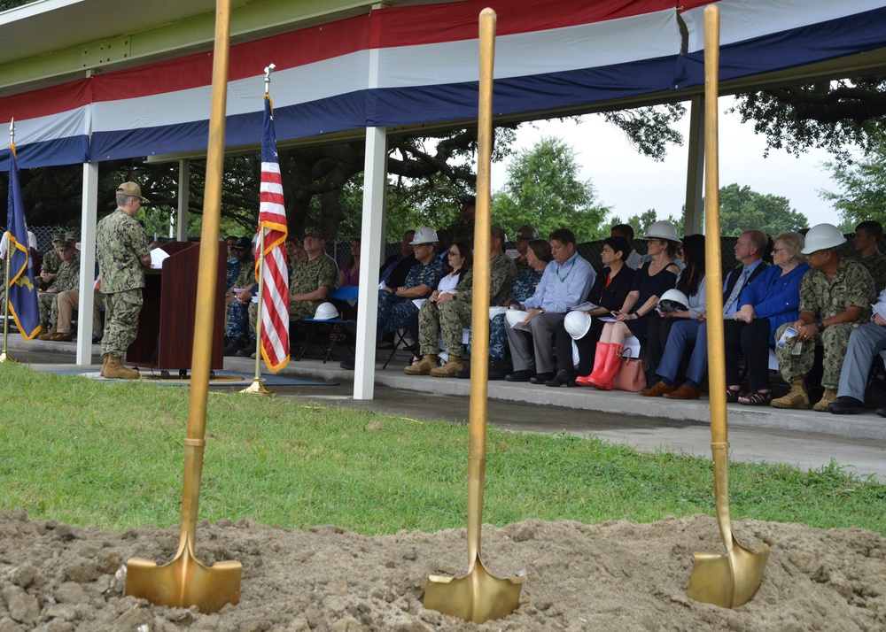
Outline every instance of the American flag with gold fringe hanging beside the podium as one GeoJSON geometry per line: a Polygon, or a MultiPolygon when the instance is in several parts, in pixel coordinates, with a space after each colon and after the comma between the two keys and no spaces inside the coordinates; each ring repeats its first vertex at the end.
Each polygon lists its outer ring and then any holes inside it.
{"type": "MultiPolygon", "coordinates": [[[[286,269],[286,209],[283,184],[277,160],[274,106],[265,95],[265,119],[261,126],[261,195],[259,231],[264,232],[265,260],[261,268],[264,287],[261,296],[261,357],[271,371],[289,364],[289,276],[286,269]]],[[[259,280],[259,252],[256,245],[255,279],[259,280]]]]}

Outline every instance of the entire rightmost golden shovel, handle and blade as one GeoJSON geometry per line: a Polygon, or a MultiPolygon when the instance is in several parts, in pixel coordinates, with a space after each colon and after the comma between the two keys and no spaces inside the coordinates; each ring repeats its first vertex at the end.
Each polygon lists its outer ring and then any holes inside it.
{"type": "MultiPolygon", "coordinates": [[[[719,237],[719,166],[717,96],[719,68],[719,7],[704,10],[704,233],[707,268],[707,304],[711,313],[723,312],[722,263],[719,237]]],[[[735,539],[729,518],[729,443],[726,417],[726,366],[723,354],[723,320],[708,319],[708,382],[711,393],[711,452],[714,463],[714,500],[726,555],[696,553],[688,597],[723,608],[746,604],[763,580],[769,547],[744,548],[735,539]]]]}

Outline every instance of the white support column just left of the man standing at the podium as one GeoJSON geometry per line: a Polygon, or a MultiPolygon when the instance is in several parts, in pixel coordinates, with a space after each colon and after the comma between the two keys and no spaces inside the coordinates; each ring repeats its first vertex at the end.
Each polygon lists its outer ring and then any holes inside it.
{"type": "Polygon", "coordinates": [[[92,364],[92,306],[96,282],[98,163],[83,163],[80,220],[80,306],[77,309],[77,365],[92,364]]]}

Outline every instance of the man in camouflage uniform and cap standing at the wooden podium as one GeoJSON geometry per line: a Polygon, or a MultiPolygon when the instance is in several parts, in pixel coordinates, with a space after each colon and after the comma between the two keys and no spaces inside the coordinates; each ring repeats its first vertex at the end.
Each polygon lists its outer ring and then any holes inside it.
{"type": "Polygon", "coordinates": [[[144,201],[141,187],[123,182],[117,187],[117,210],[99,221],[96,230],[98,272],[106,308],[102,375],[108,378],[136,380],[139,376],[138,369],[123,366],[122,359],[136,339],[144,268],[151,266],[148,235],[135,220],[144,201]]]}

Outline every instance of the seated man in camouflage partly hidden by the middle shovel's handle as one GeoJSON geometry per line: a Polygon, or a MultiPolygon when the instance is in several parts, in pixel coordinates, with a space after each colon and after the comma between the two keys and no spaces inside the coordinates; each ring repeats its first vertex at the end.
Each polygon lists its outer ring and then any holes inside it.
{"type": "MultiPolygon", "coordinates": [[[[504,253],[504,230],[492,227],[490,241],[489,269],[489,304],[501,305],[509,297],[517,267],[514,261],[504,253]]],[[[452,377],[464,366],[464,344],[462,328],[470,328],[470,307],[473,297],[474,268],[471,267],[462,281],[455,287],[455,294],[444,292],[436,299],[425,301],[418,312],[418,338],[421,345],[422,360],[416,365],[407,366],[403,372],[407,375],[427,375],[434,377],[452,377]],[[442,332],[443,343],[449,354],[444,366],[437,366],[437,336],[442,332]]]]}

